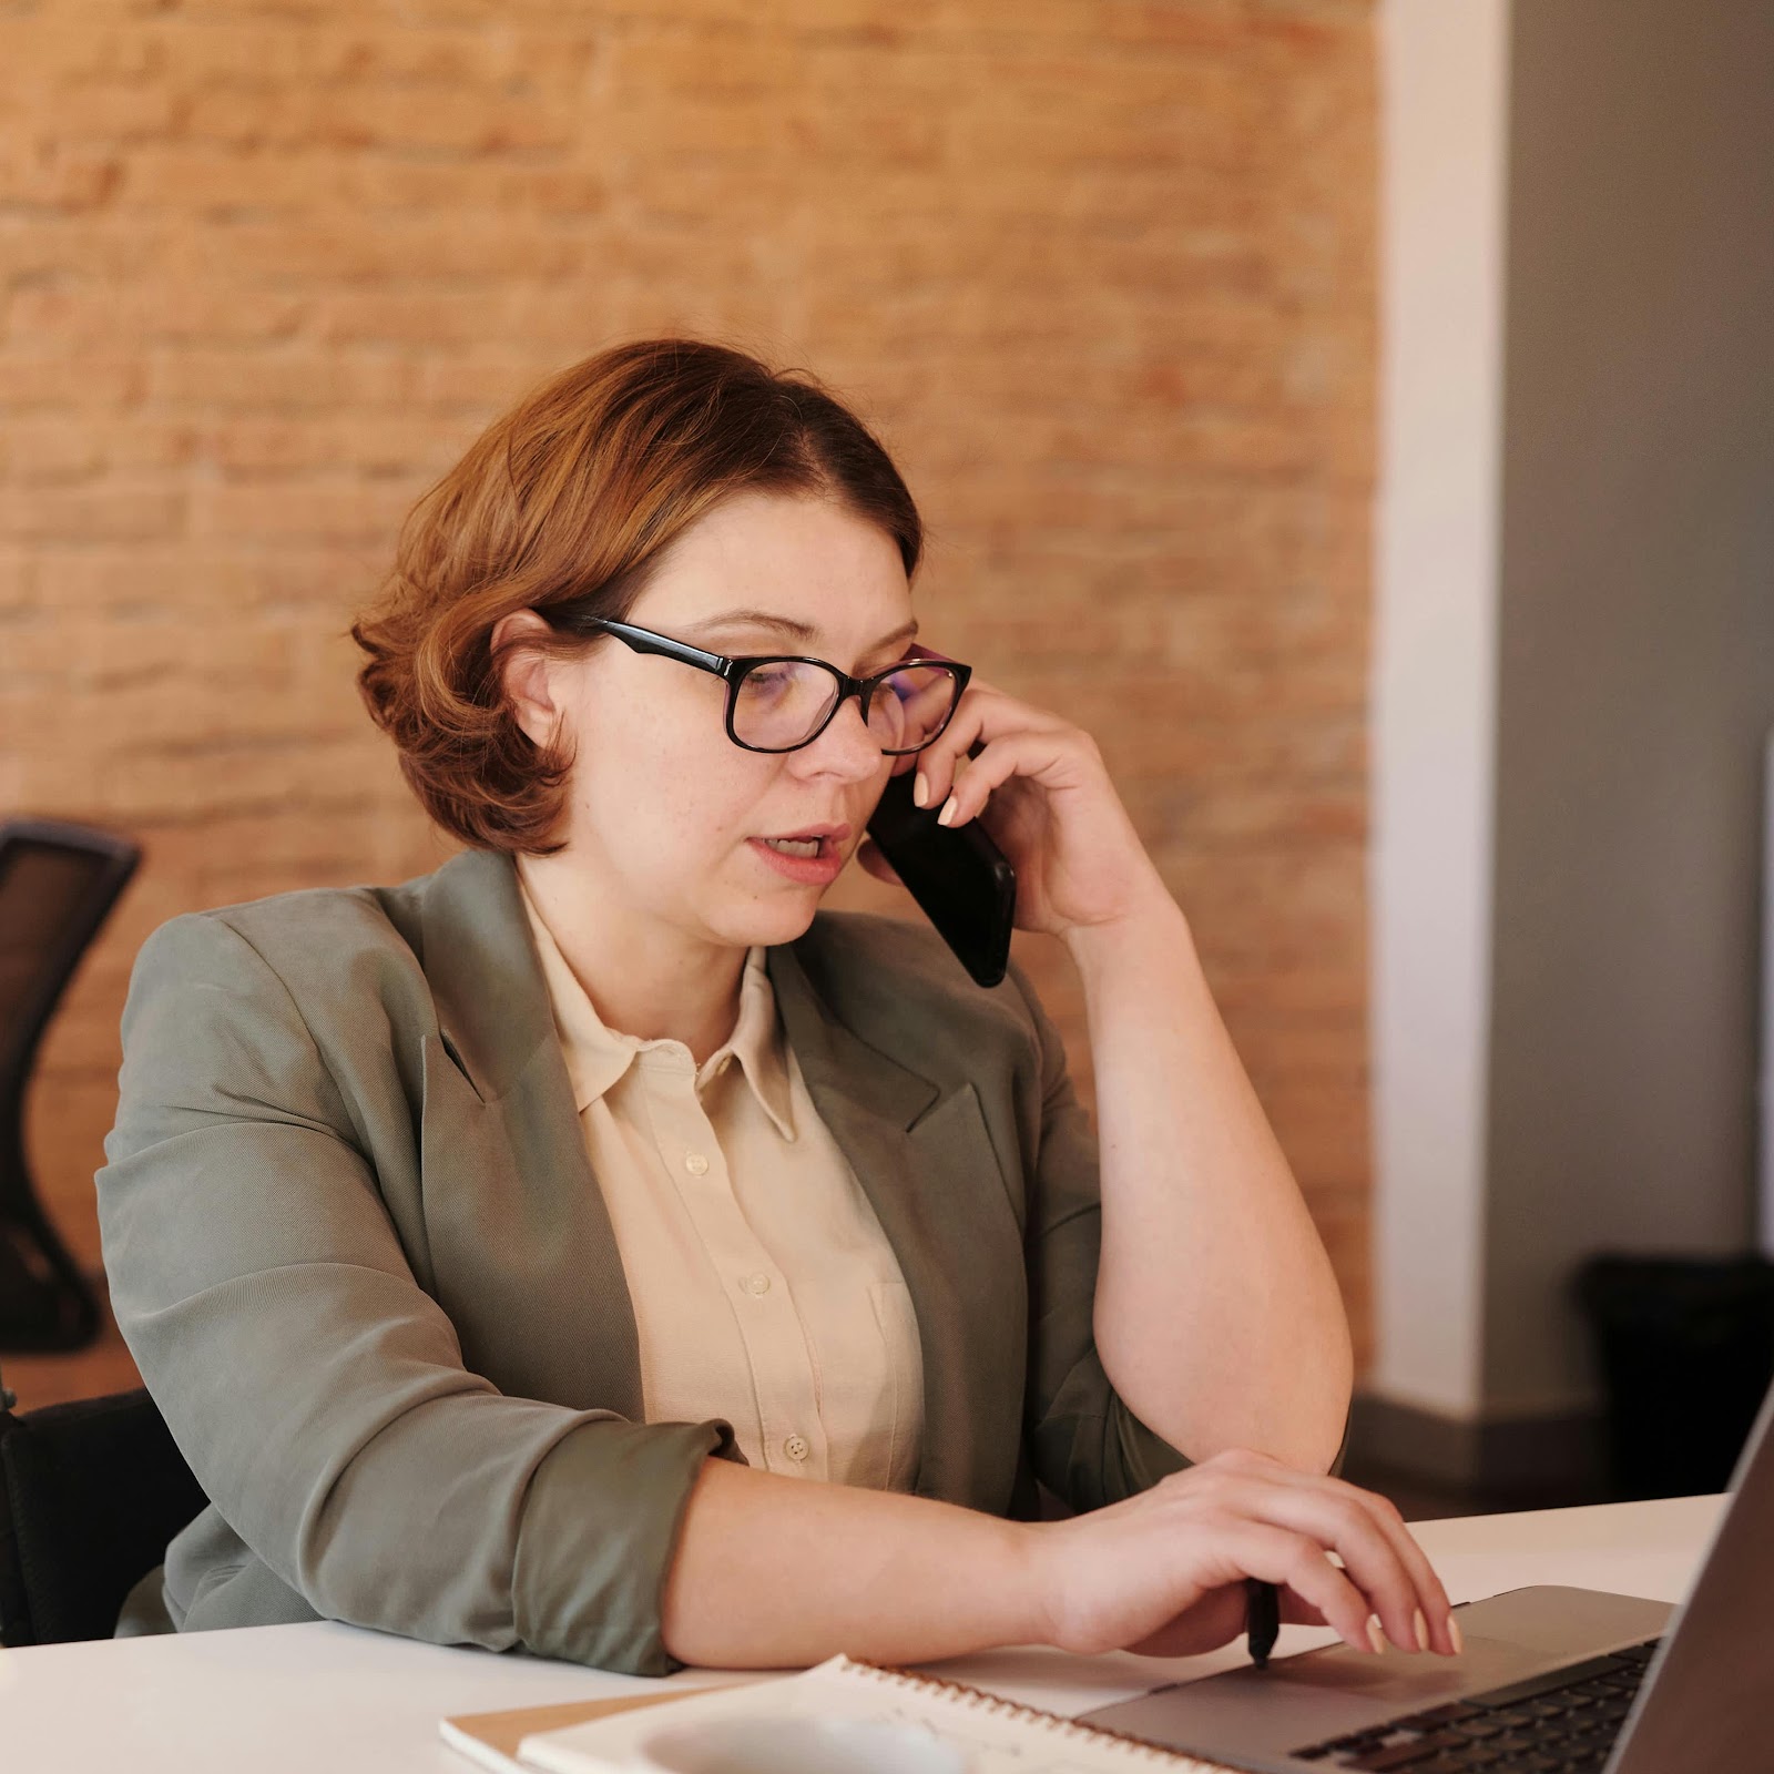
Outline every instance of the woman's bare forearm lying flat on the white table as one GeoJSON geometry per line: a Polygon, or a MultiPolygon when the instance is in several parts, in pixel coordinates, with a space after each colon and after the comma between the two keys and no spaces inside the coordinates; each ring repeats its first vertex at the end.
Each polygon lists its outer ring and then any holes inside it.
{"type": "Polygon", "coordinates": [[[1041,1639],[1034,1529],[930,1497],[704,1460],[665,1581],[665,1648],[779,1669],[928,1662],[1041,1639]]]}

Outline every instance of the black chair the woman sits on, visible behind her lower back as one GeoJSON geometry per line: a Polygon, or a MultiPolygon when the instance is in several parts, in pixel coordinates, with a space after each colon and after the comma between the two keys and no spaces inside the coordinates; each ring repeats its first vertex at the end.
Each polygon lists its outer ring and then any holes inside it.
{"type": "Polygon", "coordinates": [[[0,1644],[108,1639],[202,1488],[147,1393],[11,1403],[0,1393],[0,1644]]]}

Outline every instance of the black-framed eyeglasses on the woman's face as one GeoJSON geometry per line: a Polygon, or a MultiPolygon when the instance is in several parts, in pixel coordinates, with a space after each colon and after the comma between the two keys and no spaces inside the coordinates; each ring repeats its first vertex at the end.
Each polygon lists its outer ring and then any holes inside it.
{"type": "Polygon", "coordinates": [[[862,724],[889,757],[922,750],[949,724],[972,676],[956,660],[921,658],[889,665],[873,678],[852,678],[825,660],[763,655],[729,658],[603,616],[543,610],[543,619],[575,635],[614,635],[635,653],[713,672],[727,685],[727,738],[749,752],[793,752],[811,745],[832,722],[844,697],[862,708],[862,724]]]}

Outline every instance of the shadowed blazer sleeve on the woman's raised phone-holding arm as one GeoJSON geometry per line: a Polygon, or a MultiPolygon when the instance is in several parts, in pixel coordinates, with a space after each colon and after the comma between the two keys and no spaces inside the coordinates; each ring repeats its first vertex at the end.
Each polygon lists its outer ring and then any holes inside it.
{"type": "MultiPolygon", "coordinates": [[[[1066,1050],[1013,962],[1040,1047],[1041,1114],[1029,1178],[1029,1387],[1025,1446],[1036,1478],[1077,1511],[1119,1503],[1190,1462],[1123,1403],[1091,1323],[1102,1247],[1096,1132],[1066,1050]]],[[[1185,1277],[1178,1276],[1178,1284],[1185,1277]]]]}

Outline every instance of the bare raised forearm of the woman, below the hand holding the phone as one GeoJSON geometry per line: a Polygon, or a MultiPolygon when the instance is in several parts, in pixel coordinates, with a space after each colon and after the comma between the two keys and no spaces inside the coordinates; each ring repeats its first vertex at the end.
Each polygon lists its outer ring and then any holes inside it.
{"type": "Polygon", "coordinates": [[[1231,1045],[1183,914],[1071,933],[1096,1068],[1103,1370],[1201,1460],[1325,1469],[1348,1409],[1336,1277],[1231,1045]]]}

